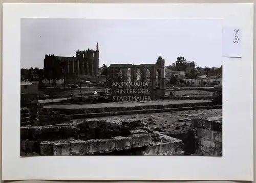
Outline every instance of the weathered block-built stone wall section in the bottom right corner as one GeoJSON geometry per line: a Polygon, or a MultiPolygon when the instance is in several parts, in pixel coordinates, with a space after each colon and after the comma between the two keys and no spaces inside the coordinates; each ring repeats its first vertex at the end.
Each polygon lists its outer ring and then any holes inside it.
{"type": "Polygon", "coordinates": [[[197,154],[222,156],[222,117],[192,119],[196,129],[197,154]]]}

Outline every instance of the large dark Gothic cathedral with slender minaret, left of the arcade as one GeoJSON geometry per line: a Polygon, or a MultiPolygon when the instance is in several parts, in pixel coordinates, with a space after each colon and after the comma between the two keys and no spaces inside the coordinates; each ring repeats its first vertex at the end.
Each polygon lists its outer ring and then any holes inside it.
{"type": "Polygon", "coordinates": [[[67,81],[85,80],[99,73],[99,45],[96,50],[76,52],[76,57],[45,55],[44,71],[46,79],[63,78],[67,81]]]}

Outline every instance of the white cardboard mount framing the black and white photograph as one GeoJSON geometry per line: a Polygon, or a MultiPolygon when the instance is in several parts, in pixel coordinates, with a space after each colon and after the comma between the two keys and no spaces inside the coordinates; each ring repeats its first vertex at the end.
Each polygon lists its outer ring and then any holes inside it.
{"type": "Polygon", "coordinates": [[[197,180],[199,172],[202,180],[253,180],[253,4],[4,4],[3,7],[4,180],[197,180]],[[202,10],[200,14],[198,9],[202,10]],[[230,12],[230,9],[233,11],[230,12]],[[233,12],[240,16],[233,16],[233,12]],[[223,26],[242,27],[242,58],[222,58],[223,156],[20,158],[19,105],[11,102],[20,101],[20,18],[122,18],[121,16],[223,18],[223,26]],[[239,72],[240,70],[246,72],[239,72]],[[242,87],[239,86],[240,83],[244,83],[242,87]],[[89,165],[88,169],[84,165],[89,165]]]}

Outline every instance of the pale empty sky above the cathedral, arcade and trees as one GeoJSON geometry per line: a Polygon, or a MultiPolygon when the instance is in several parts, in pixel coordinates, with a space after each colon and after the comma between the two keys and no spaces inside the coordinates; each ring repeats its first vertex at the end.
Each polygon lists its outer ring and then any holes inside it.
{"type": "Polygon", "coordinates": [[[202,67],[222,65],[222,27],[217,19],[50,19],[21,20],[22,68],[44,66],[46,54],[76,56],[95,50],[100,66],[117,63],[165,66],[185,57],[202,67]]]}

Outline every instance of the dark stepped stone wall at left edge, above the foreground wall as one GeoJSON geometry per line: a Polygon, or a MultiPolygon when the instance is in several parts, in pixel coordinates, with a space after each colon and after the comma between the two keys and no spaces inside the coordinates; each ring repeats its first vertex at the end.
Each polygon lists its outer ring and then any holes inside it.
{"type": "Polygon", "coordinates": [[[60,123],[70,123],[71,117],[66,117],[53,108],[21,108],[20,126],[44,126],[60,123]]]}

